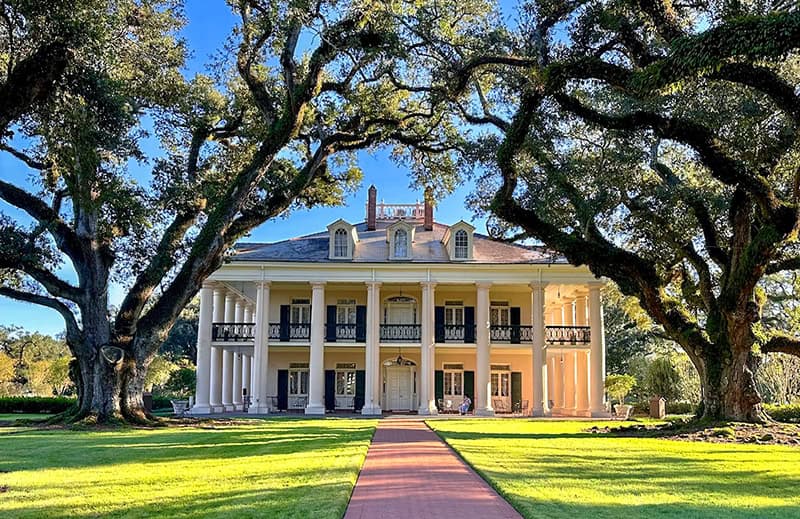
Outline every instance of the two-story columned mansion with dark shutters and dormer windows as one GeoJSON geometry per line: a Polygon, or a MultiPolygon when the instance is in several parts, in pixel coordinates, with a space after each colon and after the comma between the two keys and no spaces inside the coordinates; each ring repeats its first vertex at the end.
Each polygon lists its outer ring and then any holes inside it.
{"type": "Polygon", "coordinates": [[[602,416],[602,281],[428,203],[242,243],[200,291],[193,414],[602,416]]]}

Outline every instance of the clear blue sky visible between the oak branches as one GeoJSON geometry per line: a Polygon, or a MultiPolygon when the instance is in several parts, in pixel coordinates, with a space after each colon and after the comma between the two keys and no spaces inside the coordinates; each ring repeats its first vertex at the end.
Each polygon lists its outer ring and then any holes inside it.
{"type": "MultiPolygon", "coordinates": [[[[513,1],[500,2],[503,13],[511,22],[510,14],[513,1]]],[[[188,24],[183,31],[192,56],[187,63],[187,74],[206,70],[211,56],[219,51],[227,38],[235,18],[226,3],[222,0],[186,0],[186,16],[188,24]]],[[[343,207],[314,208],[294,211],[286,218],[278,218],[264,223],[255,229],[248,241],[274,242],[302,236],[324,230],[338,218],[348,222],[360,222],[365,217],[367,189],[375,185],[378,200],[386,203],[412,203],[422,200],[422,193],[410,188],[411,177],[406,169],[398,167],[389,159],[386,150],[375,153],[362,152],[358,156],[359,165],[364,172],[364,180],[357,192],[347,197],[343,207]]],[[[19,182],[19,162],[6,154],[0,155],[0,178],[8,178],[19,182]]],[[[465,182],[452,194],[438,201],[435,219],[442,223],[455,223],[459,220],[471,222],[479,232],[485,231],[485,220],[475,218],[465,207],[467,195],[474,189],[471,182],[465,182]]],[[[18,211],[0,202],[0,209],[11,217],[20,215],[18,211]]],[[[71,267],[64,267],[60,272],[64,279],[74,280],[71,267]]],[[[120,286],[111,289],[111,304],[121,301],[123,290],[120,286]]],[[[0,297],[0,325],[21,326],[26,330],[38,331],[50,335],[63,332],[64,323],[61,316],[50,309],[31,304],[20,303],[0,297]]]]}

